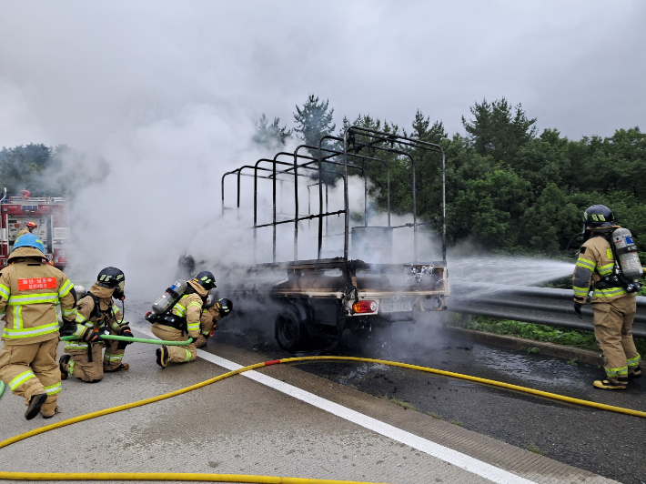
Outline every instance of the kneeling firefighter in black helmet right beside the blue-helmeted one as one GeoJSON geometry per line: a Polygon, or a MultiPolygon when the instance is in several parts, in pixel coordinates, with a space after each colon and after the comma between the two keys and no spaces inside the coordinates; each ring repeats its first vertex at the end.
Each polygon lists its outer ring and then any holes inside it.
{"type": "MultiPolygon", "coordinates": [[[[78,301],[76,323],[99,333],[133,337],[128,322],[116,307],[113,298],[123,300],[126,276],[116,267],[102,269],[96,283],[86,296],[78,301]]],[[[129,368],[122,360],[127,343],[124,341],[101,340],[96,343],[66,341],[65,352],[59,361],[63,379],[73,375],[88,383],[101,381],[106,372],[125,371],[129,368]],[[101,358],[102,349],[106,353],[101,358]]]]}

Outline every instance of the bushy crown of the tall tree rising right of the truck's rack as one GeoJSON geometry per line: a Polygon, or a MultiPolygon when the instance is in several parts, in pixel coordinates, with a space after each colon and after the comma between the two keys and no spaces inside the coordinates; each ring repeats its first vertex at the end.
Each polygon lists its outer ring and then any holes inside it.
{"type": "Polygon", "coordinates": [[[484,99],[469,110],[475,119],[467,121],[462,116],[462,125],[469,134],[469,145],[479,155],[490,155],[513,166],[520,147],[536,136],[536,118],[528,119],[520,104],[512,113],[504,97],[491,104],[484,99]]]}

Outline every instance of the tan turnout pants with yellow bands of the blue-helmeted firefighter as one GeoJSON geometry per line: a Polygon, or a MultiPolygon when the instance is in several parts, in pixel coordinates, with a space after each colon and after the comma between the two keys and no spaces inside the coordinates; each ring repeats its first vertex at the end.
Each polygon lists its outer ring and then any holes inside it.
{"type": "Polygon", "coordinates": [[[12,345],[5,340],[0,348],[0,379],[14,395],[25,398],[25,405],[34,395],[46,393],[40,411],[47,417],[54,415],[61,391],[57,348],[57,337],[27,345],[12,345]]]}

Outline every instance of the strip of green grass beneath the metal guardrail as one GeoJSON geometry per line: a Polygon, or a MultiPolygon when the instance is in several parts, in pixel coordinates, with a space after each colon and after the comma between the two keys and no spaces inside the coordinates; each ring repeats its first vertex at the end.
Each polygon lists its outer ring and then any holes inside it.
{"type": "MultiPolygon", "coordinates": [[[[534,323],[483,317],[474,317],[467,323],[459,323],[458,318],[455,318],[453,326],[496,333],[498,335],[528,338],[535,341],[546,341],[576,348],[599,349],[592,331],[552,328],[551,326],[534,323]]],[[[646,355],[646,340],[635,338],[635,346],[641,355],[646,355]]],[[[533,348],[528,348],[528,353],[530,352],[533,353],[535,351],[533,348]]]]}

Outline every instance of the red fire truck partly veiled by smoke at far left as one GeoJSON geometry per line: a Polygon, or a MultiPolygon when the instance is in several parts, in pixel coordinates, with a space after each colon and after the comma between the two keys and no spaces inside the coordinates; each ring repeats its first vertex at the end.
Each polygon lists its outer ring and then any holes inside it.
{"type": "Polygon", "coordinates": [[[5,188],[0,210],[0,268],[6,267],[16,236],[27,222],[37,226],[33,234],[43,241],[45,257],[59,269],[66,266],[69,240],[66,198],[31,197],[27,190],[22,190],[17,197],[7,197],[5,188]]]}

